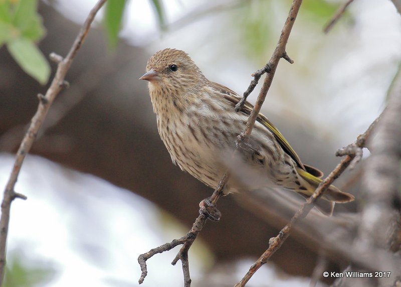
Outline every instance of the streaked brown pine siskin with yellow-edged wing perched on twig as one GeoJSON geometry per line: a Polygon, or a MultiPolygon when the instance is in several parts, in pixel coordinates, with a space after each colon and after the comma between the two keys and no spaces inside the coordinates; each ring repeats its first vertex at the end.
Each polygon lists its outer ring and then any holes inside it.
{"type": "MultiPolygon", "coordinates": [[[[161,139],[173,163],[206,185],[216,188],[227,165],[221,160],[235,149],[253,106],[246,102],[240,112],[234,107],[241,97],[229,88],[209,81],[183,51],[164,49],[154,54],[139,79],[149,81],[153,110],[161,139]]],[[[321,182],[321,172],[302,164],[288,141],[259,114],[248,140],[245,163],[266,177],[266,184],[312,195],[321,182]]],[[[249,189],[260,188],[250,186],[249,189]]],[[[225,194],[239,192],[229,181],[225,194]]],[[[334,202],[354,200],[351,194],[330,186],[318,200],[318,209],[331,215],[334,202]]]]}

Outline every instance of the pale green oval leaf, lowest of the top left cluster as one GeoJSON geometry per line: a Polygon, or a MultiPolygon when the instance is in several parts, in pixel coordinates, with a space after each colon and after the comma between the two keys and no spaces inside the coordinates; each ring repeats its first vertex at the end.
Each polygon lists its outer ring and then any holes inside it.
{"type": "Polygon", "coordinates": [[[42,85],[50,76],[50,65],[32,40],[17,38],[7,43],[7,48],[16,62],[42,85]]]}

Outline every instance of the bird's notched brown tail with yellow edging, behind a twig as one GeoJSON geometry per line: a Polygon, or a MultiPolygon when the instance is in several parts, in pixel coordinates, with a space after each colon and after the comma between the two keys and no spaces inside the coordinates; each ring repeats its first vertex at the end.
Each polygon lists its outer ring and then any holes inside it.
{"type": "MultiPolygon", "coordinates": [[[[296,169],[299,176],[310,185],[310,188],[308,187],[307,191],[299,191],[299,193],[305,197],[311,196],[322,180],[301,168],[297,167],[296,169]]],[[[353,201],[354,199],[355,197],[352,194],[342,192],[335,186],[330,185],[323,193],[322,197],[315,202],[315,205],[323,214],[330,216],[333,214],[335,202],[345,203],[353,201]]]]}

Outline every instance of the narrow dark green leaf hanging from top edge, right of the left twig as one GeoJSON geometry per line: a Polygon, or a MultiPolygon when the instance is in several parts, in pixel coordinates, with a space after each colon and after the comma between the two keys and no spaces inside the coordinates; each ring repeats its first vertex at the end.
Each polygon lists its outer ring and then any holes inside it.
{"type": "Polygon", "coordinates": [[[109,0],[106,4],[104,24],[112,48],[117,46],[125,4],[126,0],[109,0]]]}

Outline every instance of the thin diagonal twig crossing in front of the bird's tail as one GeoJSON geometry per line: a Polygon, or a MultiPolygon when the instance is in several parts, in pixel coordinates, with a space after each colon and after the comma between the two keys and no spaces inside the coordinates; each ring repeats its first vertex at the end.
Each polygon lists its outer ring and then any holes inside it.
{"type": "MultiPolygon", "coordinates": [[[[365,145],[366,140],[369,138],[372,129],[374,128],[376,122],[378,121],[380,116],[378,116],[367,128],[367,130],[358,136],[357,140],[350,144],[349,149],[361,149],[363,145],[365,145]]],[[[291,229],[293,225],[303,219],[309,211],[313,208],[313,203],[323,194],[323,192],[333,183],[333,181],[339,177],[344,170],[351,164],[352,160],[355,158],[356,152],[350,153],[347,155],[337,166],[336,168],[320,183],[315,192],[306,200],[306,202],[301,206],[301,208],[295,213],[295,215],[291,218],[290,222],[287,223],[283,229],[280,230],[279,234],[276,237],[273,237],[269,241],[269,248],[259,257],[259,259],[249,268],[248,272],[241,279],[239,283],[235,285],[235,287],[243,287],[245,284],[251,279],[253,274],[270,259],[270,257],[281,247],[284,241],[290,235],[291,229]]]]}

